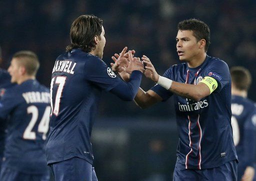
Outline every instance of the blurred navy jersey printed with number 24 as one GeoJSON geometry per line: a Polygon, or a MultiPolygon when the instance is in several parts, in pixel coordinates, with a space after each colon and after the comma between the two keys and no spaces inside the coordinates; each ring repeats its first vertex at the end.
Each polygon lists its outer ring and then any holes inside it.
{"type": "Polygon", "coordinates": [[[50,114],[49,91],[36,80],[9,88],[0,100],[0,120],[8,117],[2,166],[47,173],[44,142],[50,114]]]}

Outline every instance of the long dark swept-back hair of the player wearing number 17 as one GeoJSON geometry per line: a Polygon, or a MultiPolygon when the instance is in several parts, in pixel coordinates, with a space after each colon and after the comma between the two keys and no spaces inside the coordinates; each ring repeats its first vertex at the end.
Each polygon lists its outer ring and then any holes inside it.
{"type": "Polygon", "coordinates": [[[100,35],[103,21],[94,15],[80,15],[70,28],[71,44],[66,46],[66,51],[81,48],[85,52],[95,49],[94,36],[100,35]]]}

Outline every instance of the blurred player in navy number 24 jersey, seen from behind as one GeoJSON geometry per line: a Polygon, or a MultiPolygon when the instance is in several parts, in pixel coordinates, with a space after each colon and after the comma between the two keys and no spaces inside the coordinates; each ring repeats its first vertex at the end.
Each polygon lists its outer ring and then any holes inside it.
{"type": "Polygon", "coordinates": [[[0,180],[49,180],[44,147],[49,91],[35,79],[38,68],[32,51],[16,52],[8,68],[17,84],[0,100],[0,120],[8,120],[0,180]]]}

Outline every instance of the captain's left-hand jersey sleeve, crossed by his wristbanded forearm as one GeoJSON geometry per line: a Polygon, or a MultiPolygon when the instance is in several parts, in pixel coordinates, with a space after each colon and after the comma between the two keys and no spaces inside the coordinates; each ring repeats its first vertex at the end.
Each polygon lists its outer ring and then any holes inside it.
{"type": "MultiPolygon", "coordinates": [[[[173,80],[172,75],[171,75],[172,68],[173,68],[173,66],[168,68],[163,73],[162,76],[173,80]]],[[[166,90],[164,87],[162,87],[161,85],[158,85],[157,83],[151,88],[151,90],[153,90],[155,93],[157,93],[163,99],[163,101],[167,100],[171,95],[173,95],[173,93],[171,91],[166,90]]]]}

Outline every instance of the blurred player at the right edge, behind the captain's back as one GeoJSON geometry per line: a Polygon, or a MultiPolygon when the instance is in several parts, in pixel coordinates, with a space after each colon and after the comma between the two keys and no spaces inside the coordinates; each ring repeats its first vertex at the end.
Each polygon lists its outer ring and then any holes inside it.
{"type": "Polygon", "coordinates": [[[256,107],[247,98],[251,75],[247,69],[234,66],[230,69],[232,80],[231,124],[234,145],[239,159],[237,180],[253,179],[256,149],[256,107]]]}

